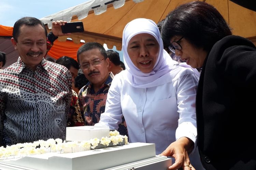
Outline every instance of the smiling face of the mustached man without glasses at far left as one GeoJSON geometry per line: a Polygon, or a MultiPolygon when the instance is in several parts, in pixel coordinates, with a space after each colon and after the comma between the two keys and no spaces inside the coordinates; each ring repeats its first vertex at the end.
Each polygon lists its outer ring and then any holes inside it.
{"type": "Polygon", "coordinates": [[[35,71],[46,54],[45,30],[41,25],[26,26],[19,28],[17,42],[11,39],[15,50],[18,51],[20,59],[35,71]]]}

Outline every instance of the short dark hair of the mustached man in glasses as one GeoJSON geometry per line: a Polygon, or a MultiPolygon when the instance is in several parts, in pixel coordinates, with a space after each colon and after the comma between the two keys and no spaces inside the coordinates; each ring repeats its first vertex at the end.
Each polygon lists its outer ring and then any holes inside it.
{"type": "Polygon", "coordinates": [[[96,43],[96,42],[90,42],[90,43],[85,43],[84,45],[82,45],[78,51],[77,51],[77,61],[79,63],[79,55],[85,51],[88,51],[88,50],[92,50],[92,49],[99,49],[100,50],[100,53],[104,56],[104,58],[108,58],[108,55],[106,54],[106,50],[104,49],[104,47],[99,44],[99,43],[96,43]]]}

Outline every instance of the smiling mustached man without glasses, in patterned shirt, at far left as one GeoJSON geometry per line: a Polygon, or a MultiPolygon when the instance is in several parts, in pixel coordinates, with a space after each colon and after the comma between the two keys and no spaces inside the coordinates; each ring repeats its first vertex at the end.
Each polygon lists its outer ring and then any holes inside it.
{"type": "Polygon", "coordinates": [[[66,138],[71,74],[44,59],[47,30],[23,17],[13,27],[16,63],[0,72],[0,145],[66,138]]]}

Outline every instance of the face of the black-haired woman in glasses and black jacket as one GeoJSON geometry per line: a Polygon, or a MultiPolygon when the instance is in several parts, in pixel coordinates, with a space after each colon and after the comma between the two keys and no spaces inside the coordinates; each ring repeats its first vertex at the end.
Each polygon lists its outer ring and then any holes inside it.
{"type": "MultiPolygon", "coordinates": [[[[170,39],[170,43],[179,40],[181,37],[182,36],[173,36],[170,39]]],[[[181,60],[186,61],[187,65],[190,65],[192,68],[201,68],[207,56],[207,51],[195,47],[193,44],[189,43],[185,37],[179,41],[179,44],[182,49],[176,49],[175,55],[180,56],[181,60]]]]}

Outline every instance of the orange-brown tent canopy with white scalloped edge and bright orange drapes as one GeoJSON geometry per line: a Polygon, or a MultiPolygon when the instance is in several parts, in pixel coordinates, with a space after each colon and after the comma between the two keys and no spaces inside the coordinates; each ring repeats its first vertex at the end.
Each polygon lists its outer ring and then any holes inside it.
{"type": "MultiPolygon", "coordinates": [[[[96,41],[106,44],[109,49],[116,46],[122,48],[122,33],[125,25],[136,18],[152,19],[156,23],[164,19],[167,14],[180,4],[192,0],[91,0],[80,5],[41,18],[47,28],[52,27],[52,21],[82,21],[84,32],[72,33],[69,36],[59,37],[48,55],[57,59],[63,55],[76,59],[77,49],[85,42],[96,41]],[[99,15],[100,14],[100,15],[99,15]],[[72,41],[67,40],[71,38],[72,41]]],[[[248,10],[229,0],[201,0],[212,4],[223,15],[234,35],[240,35],[253,41],[256,45],[256,12],[248,10]]],[[[48,31],[51,31],[48,29],[48,31]]],[[[12,28],[0,25],[0,51],[9,56],[14,52],[7,52],[8,43],[3,41],[10,39],[12,28]],[[7,39],[3,39],[7,38],[7,39]]],[[[15,54],[17,58],[17,53],[15,54]]],[[[12,61],[15,62],[15,61],[12,61]]],[[[11,62],[6,62],[6,66],[11,62]]]]}

